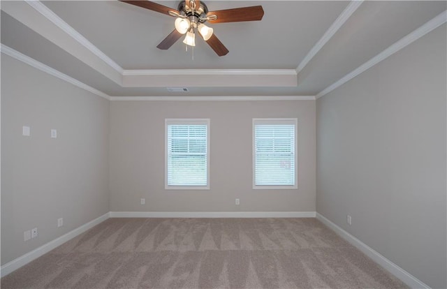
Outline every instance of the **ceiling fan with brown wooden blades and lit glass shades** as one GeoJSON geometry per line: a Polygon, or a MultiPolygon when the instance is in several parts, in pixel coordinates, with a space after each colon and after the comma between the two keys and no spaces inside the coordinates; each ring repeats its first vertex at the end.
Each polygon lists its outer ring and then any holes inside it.
{"type": "Polygon", "coordinates": [[[213,34],[213,29],[204,24],[205,22],[224,23],[256,21],[261,20],[264,15],[262,6],[250,6],[209,12],[205,3],[200,0],[181,1],[177,10],[152,1],[119,1],[177,18],[175,20],[174,31],[172,31],[166,38],[163,39],[163,41],[161,41],[159,45],[157,45],[159,49],[169,49],[169,47],[171,47],[184,34],[186,34],[186,37],[184,38],[183,43],[189,46],[196,46],[195,36],[196,31],[198,31],[203,40],[210,45],[212,50],[214,50],[219,57],[226,55],[228,53],[228,49],[221,43],[219,38],[213,34]]]}

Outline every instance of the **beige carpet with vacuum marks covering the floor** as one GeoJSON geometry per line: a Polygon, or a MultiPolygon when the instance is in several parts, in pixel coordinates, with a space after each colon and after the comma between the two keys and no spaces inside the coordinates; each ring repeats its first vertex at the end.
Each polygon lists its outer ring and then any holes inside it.
{"type": "Polygon", "coordinates": [[[315,218],[110,218],[1,288],[407,288],[315,218]]]}

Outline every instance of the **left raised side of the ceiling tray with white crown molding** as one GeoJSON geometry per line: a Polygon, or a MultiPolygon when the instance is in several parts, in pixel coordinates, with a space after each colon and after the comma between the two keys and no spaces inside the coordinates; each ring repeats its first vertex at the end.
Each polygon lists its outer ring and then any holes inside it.
{"type": "MultiPolygon", "coordinates": [[[[113,82],[121,85],[122,83],[122,73],[112,68],[109,64],[105,63],[103,59],[98,57],[94,52],[73,36],[69,35],[58,26],[54,24],[52,20],[45,17],[41,11],[36,10],[35,7],[44,6],[42,3],[36,1],[2,1],[1,10],[8,13],[11,17],[15,18],[17,21],[22,22],[29,29],[34,30],[37,34],[40,34],[47,40],[50,40],[54,45],[59,46],[62,50],[65,50],[69,54],[73,55],[84,64],[87,64],[98,73],[103,74],[108,77],[113,82]]],[[[45,8],[44,8],[45,9],[45,8]]],[[[63,20],[60,20],[63,22],[63,20]]],[[[60,24],[60,23],[59,23],[60,24]]],[[[68,26],[68,24],[66,24],[68,26]]],[[[73,29],[74,30],[74,29],[73,29]]]]}

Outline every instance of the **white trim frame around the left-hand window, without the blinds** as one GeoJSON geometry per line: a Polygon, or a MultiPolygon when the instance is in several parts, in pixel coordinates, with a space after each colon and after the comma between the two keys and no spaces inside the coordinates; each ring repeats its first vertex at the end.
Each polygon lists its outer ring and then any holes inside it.
{"type": "Polygon", "coordinates": [[[210,190],[210,119],[165,119],[165,190],[210,190]],[[207,126],[207,185],[173,186],[168,185],[168,125],[205,124],[207,126]]]}

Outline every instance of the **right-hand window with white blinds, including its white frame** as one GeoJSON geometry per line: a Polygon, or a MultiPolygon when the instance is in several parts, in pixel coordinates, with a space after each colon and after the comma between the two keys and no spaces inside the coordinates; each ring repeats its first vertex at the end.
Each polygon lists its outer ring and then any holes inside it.
{"type": "Polygon", "coordinates": [[[297,119],[253,119],[253,188],[298,188],[297,119]]]}

